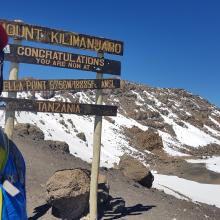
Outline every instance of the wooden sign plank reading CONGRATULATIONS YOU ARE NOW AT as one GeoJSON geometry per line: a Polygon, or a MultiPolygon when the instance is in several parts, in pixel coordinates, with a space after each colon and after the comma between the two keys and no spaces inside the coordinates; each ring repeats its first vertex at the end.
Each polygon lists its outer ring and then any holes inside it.
{"type": "Polygon", "coordinates": [[[121,74],[119,61],[15,44],[10,44],[10,53],[5,54],[5,60],[113,75],[121,74]]]}

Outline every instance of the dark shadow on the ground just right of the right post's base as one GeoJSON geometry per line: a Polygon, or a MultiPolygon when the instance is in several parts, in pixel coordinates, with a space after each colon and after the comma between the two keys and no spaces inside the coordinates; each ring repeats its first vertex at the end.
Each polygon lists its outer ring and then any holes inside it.
{"type": "Polygon", "coordinates": [[[142,204],[126,207],[125,201],[122,198],[111,198],[107,205],[100,207],[99,219],[123,219],[123,217],[126,216],[141,215],[143,212],[146,212],[154,207],[156,206],[142,204]]]}

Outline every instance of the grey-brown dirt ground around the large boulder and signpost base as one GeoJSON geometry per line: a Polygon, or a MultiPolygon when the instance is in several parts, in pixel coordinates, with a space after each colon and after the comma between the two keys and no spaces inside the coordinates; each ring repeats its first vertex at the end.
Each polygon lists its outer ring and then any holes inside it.
{"type": "MultiPolygon", "coordinates": [[[[51,150],[42,140],[35,141],[31,137],[24,138],[15,134],[14,142],[26,160],[29,220],[57,219],[51,215],[51,207],[45,202],[45,183],[56,170],[76,167],[90,169],[90,165],[74,156],[51,150]]],[[[167,170],[172,166],[173,164],[167,167],[167,170]]],[[[186,167],[185,169],[187,170],[188,168],[186,167]]],[[[171,169],[170,172],[174,173],[174,171],[171,169]]],[[[118,170],[111,169],[105,171],[102,169],[102,172],[108,177],[112,200],[116,203],[124,200],[126,208],[122,213],[113,212],[108,210],[107,207],[104,207],[102,210],[99,209],[99,219],[220,219],[220,209],[215,206],[201,203],[195,204],[179,200],[156,189],[146,189],[126,179],[118,170]]],[[[194,176],[194,173],[191,175],[194,176]]],[[[185,178],[185,176],[183,177],[185,178]]]]}

